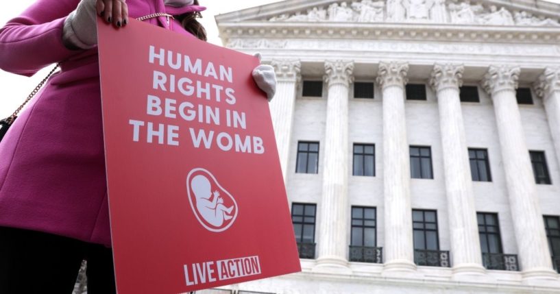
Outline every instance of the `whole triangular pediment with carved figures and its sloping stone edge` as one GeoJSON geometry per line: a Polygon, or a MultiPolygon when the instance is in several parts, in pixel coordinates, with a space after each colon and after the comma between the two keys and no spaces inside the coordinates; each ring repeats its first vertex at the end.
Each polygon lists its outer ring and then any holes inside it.
{"type": "Polygon", "coordinates": [[[537,0],[281,1],[217,16],[218,23],[423,23],[560,27],[560,5],[537,0]],[[518,2],[518,3],[516,3],[518,2]]]}

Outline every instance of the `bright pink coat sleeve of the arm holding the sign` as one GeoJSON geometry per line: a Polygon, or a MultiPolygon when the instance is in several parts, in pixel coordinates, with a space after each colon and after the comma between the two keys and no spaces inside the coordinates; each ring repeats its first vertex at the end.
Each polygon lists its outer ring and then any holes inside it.
{"type": "Polygon", "coordinates": [[[0,69],[31,76],[81,51],[62,44],[66,16],[79,0],[37,0],[0,29],[0,69]]]}

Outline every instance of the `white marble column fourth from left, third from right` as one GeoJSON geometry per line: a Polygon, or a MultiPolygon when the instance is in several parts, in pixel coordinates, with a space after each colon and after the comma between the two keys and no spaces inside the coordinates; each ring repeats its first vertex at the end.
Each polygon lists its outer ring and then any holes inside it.
{"type": "Polygon", "coordinates": [[[463,71],[462,64],[435,64],[430,79],[439,107],[454,274],[485,272],[459,98],[463,71]]]}

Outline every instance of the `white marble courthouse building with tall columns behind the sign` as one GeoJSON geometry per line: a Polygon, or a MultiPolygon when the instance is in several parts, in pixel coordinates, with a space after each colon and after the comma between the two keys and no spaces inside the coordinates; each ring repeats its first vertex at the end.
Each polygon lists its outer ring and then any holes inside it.
{"type": "Polygon", "coordinates": [[[219,293],[560,293],[559,4],[287,0],[216,19],[276,69],[302,264],[219,293]]]}

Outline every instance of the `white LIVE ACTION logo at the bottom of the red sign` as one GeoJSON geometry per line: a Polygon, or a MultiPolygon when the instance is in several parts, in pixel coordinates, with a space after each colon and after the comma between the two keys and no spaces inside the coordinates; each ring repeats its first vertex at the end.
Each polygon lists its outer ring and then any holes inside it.
{"type": "Polygon", "coordinates": [[[258,256],[199,262],[191,264],[190,267],[184,265],[183,268],[187,286],[261,273],[258,256]]]}

